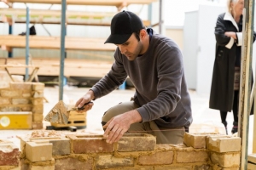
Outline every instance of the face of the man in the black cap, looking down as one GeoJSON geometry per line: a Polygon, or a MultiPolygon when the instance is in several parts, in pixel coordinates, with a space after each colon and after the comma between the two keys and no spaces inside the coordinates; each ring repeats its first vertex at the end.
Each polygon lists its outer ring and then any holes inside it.
{"type": "Polygon", "coordinates": [[[115,45],[119,47],[121,54],[125,54],[129,60],[136,59],[143,49],[143,43],[137,40],[135,33],[131,34],[131,37],[125,43],[115,45]]]}

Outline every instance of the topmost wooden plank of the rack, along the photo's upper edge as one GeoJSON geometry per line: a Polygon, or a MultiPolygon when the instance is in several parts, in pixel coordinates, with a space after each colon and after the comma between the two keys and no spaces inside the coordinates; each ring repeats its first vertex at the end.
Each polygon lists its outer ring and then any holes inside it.
{"type": "MultiPolygon", "coordinates": [[[[51,3],[61,4],[61,0],[1,0],[8,3],[51,3]]],[[[156,2],[157,0],[67,0],[67,5],[99,5],[99,6],[124,6],[127,7],[130,4],[149,4],[156,2]]]]}

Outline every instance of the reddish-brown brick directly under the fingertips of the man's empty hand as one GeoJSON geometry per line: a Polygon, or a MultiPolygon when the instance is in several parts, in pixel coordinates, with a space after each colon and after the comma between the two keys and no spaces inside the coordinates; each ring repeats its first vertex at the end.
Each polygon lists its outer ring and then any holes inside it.
{"type": "Polygon", "coordinates": [[[113,152],[113,144],[108,144],[102,135],[67,135],[71,139],[73,153],[113,152]]]}

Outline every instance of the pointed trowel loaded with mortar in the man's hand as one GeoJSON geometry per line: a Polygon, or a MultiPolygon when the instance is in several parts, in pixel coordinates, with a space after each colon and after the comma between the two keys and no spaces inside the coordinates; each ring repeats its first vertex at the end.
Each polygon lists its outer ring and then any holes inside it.
{"type": "Polygon", "coordinates": [[[73,107],[68,109],[67,105],[62,100],[60,100],[44,117],[44,121],[57,124],[67,124],[70,111],[82,111],[84,110],[84,106],[90,103],[92,102],[88,102],[80,108],[73,107]]]}

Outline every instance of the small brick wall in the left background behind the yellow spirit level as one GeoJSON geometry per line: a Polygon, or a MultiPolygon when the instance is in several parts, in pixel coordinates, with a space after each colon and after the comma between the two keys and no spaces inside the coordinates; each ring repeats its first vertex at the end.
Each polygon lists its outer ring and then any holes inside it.
{"type": "Polygon", "coordinates": [[[32,129],[43,128],[44,83],[9,82],[0,88],[0,112],[32,112],[32,129]]]}

